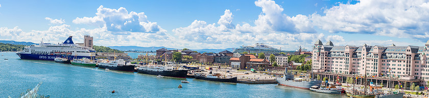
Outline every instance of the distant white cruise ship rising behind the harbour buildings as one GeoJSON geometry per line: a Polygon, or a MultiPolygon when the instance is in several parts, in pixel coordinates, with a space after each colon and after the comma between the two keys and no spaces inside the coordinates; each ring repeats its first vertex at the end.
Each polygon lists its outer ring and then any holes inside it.
{"type": "Polygon", "coordinates": [[[263,43],[256,43],[255,46],[240,46],[240,48],[236,48],[232,51],[233,53],[261,53],[264,52],[265,54],[276,54],[276,53],[287,53],[288,51],[280,50],[273,48],[271,46],[265,45],[263,43]]]}

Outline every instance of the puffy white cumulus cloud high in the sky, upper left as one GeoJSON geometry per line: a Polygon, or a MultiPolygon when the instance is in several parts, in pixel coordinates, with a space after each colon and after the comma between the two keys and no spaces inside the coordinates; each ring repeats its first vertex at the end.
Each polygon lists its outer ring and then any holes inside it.
{"type": "Polygon", "coordinates": [[[109,9],[100,6],[94,17],[77,17],[73,20],[76,24],[89,24],[106,27],[113,32],[166,32],[156,22],[150,22],[144,12],[128,12],[121,7],[119,9],[109,9]]]}

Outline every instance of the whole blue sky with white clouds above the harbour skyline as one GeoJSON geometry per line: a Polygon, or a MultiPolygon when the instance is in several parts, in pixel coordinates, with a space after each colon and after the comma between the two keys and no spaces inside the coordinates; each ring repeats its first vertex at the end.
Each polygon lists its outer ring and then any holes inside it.
{"type": "Polygon", "coordinates": [[[225,49],[424,46],[429,1],[0,1],[0,40],[225,49]]]}

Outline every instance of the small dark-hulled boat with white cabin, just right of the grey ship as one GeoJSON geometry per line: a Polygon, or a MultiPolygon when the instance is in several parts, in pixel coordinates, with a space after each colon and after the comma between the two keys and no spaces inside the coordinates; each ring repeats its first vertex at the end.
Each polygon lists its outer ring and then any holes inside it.
{"type": "Polygon", "coordinates": [[[330,94],[341,94],[344,91],[344,89],[337,88],[333,84],[328,84],[327,80],[325,81],[325,83],[322,83],[322,84],[314,85],[310,87],[310,90],[315,92],[330,93],[330,94]]]}

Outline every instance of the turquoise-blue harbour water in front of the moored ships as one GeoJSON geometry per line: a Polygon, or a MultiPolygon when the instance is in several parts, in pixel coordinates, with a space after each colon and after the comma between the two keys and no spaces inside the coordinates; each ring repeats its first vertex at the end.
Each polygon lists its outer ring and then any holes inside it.
{"type": "Polygon", "coordinates": [[[54,61],[23,60],[11,52],[0,54],[4,55],[0,56],[0,97],[18,97],[39,82],[43,84],[38,93],[51,97],[347,97],[277,84],[157,78],[54,61]],[[181,80],[190,83],[181,83],[181,80]],[[183,88],[177,88],[179,84],[183,88]],[[116,93],[111,93],[112,90],[116,93]]]}

